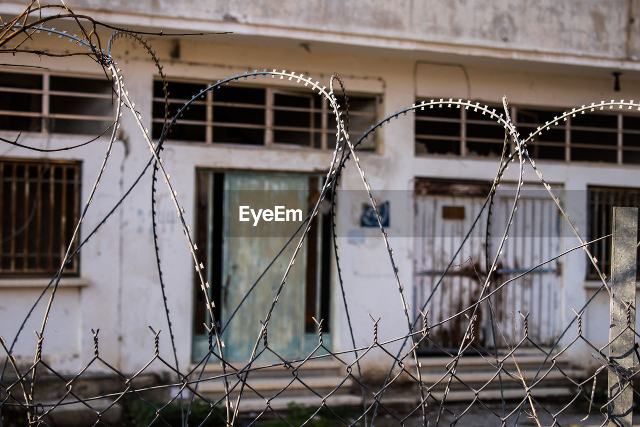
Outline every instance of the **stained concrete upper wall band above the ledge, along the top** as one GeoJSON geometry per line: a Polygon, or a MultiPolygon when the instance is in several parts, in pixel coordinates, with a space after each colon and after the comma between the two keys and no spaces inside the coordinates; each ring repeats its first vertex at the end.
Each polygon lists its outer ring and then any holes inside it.
{"type": "MultiPolygon", "coordinates": [[[[265,28],[276,28],[280,37],[303,31],[301,39],[337,37],[343,43],[371,46],[389,39],[392,42],[383,44],[396,48],[429,42],[616,59],[636,59],[640,49],[637,0],[73,0],[67,4],[140,14],[140,25],[180,19],[186,20],[184,29],[192,26],[196,31],[219,28],[260,35],[266,34],[265,28]]],[[[277,37],[271,31],[269,35],[277,37]]]]}

